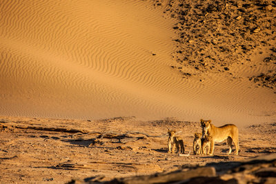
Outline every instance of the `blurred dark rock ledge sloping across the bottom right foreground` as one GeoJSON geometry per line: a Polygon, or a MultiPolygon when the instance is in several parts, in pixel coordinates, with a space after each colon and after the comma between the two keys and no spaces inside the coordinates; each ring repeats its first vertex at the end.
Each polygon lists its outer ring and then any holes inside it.
{"type": "Polygon", "coordinates": [[[69,183],[276,183],[276,154],[244,161],[184,166],[173,172],[148,176],[130,176],[101,182],[103,176],[75,179],[69,183]]]}

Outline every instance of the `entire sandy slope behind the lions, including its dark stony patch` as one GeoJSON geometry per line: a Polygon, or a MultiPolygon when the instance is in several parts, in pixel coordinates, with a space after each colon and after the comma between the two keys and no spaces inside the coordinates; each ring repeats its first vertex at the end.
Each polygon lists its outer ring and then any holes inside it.
{"type": "Polygon", "coordinates": [[[275,121],[275,1],[235,2],[5,1],[0,114],[275,121]]]}

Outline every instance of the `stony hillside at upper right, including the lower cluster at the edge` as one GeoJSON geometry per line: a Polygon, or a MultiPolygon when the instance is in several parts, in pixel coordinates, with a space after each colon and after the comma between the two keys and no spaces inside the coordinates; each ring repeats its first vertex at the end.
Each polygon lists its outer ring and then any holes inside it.
{"type": "Polygon", "coordinates": [[[258,85],[276,87],[276,1],[161,1],[164,13],[175,17],[179,35],[173,56],[184,77],[226,72],[234,78],[235,68],[248,67],[246,77],[258,85]],[[266,73],[258,73],[263,65],[266,73]]]}

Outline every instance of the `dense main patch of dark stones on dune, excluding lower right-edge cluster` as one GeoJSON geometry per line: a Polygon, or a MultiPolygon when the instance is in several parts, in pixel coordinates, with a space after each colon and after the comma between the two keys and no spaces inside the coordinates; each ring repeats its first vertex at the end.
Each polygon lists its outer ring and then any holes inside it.
{"type": "Polygon", "coordinates": [[[220,68],[221,60],[227,68],[240,65],[241,61],[257,57],[259,50],[264,50],[264,41],[272,45],[270,40],[275,39],[274,0],[164,1],[164,6],[166,3],[174,6],[164,13],[174,14],[178,21],[172,26],[179,34],[172,58],[185,68],[197,70],[196,75],[217,72],[213,69],[220,68]],[[202,59],[208,56],[215,56],[208,59],[212,67],[201,67],[205,62],[202,59]]]}

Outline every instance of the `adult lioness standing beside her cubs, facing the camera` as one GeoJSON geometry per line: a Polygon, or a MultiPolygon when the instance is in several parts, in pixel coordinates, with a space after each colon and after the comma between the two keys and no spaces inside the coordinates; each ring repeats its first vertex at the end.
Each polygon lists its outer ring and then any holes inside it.
{"type": "Polygon", "coordinates": [[[211,124],[210,120],[204,121],[203,119],[200,120],[200,123],[202,127],[202,138],[204,138],[205,135],[213,136],[210,143],[210,155],[213,155],[215,142],[221,142],[225,139],[227,139],[227,144],[229,146],[228,154],[232,152],[232,141],[236,147],[235,154],[239,154],[239,130],[236,125],[227,124],[222,127],[215,127],[215,125],[211,124]]]}

